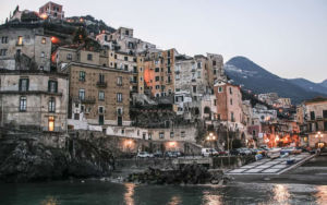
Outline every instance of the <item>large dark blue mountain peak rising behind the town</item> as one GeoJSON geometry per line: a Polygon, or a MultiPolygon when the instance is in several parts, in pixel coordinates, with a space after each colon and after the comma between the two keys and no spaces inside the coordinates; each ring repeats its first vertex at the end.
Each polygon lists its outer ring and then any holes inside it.
{"type": "Polygon", "coordinates": [[[326,96],[307,92],[290,81],[268,72],[245,57],[234,57],[226,62],[223,68],[234,84],[242,85],[243,89],[251,91],[252,94],[278,93],[279,97],[291,98],[293,105],[319,95],[326,96]]]}

